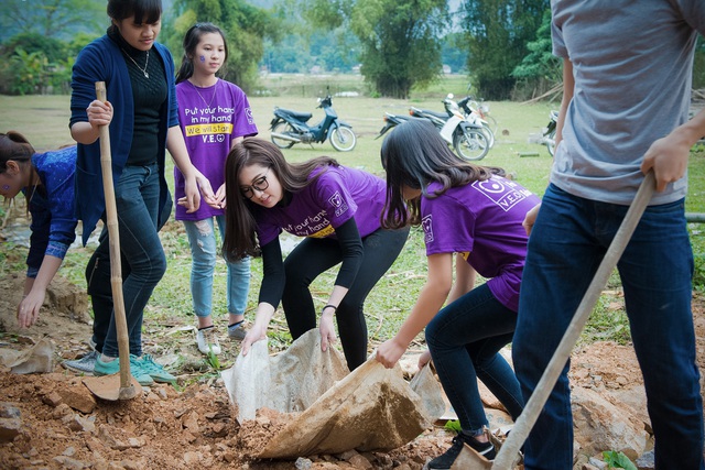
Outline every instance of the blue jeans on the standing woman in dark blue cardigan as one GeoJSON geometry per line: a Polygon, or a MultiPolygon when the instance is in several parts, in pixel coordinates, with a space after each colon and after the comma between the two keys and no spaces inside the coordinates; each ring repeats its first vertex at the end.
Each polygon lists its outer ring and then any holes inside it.
{"type": "MultiPolygon", "coordinates": [[[[122,276],[122,296],[128,324],[130,353],[142,356],[142,316],[154,287],[166,271],[166,258],[158,234],[159,168],[150,166],[126,166],[115,185],[120,254],[122,263],[130,267],[122,276]]],[[[96,251],[106,252],[104,244],[109,236],[101,237],[96,251]]],[[[109,263],[97,266],[110,269],[109,263]]],[[[105,273],[100,277],[105,278],[105,273]]],[[[102,353],[117,358],[118,337],[115,316],[105,338],[102,353]]]]}

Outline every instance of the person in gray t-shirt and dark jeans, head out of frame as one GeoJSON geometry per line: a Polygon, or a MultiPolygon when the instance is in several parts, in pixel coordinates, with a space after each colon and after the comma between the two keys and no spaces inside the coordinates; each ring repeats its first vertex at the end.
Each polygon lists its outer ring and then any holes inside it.
{"type": "MultiPolygon", "coordinates": [[[[703,0],[554,0],[564,97],[555,162],[531,233],[512,347],[529,400],[649,171],[657,192],[618,270],[648,397],[657,469],[704,469],[703,404],[691,311],[687,159],[703,0]],[[536,341],[541,338],[541,341],[536,341]]],[[[568,367],[524,447],[527,470],[573,468],[568,367]]]]}

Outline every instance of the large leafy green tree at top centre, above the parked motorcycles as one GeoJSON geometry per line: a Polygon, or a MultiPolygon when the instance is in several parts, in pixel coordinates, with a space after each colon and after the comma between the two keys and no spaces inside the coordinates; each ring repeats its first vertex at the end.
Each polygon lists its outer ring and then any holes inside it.
{"type": "Polygon", "coordinates": [[[360,73],[381,96],[408,98],[441,73],[445,0],[303,0],[315,26],[349,28],[361,46],[360,73]]]}

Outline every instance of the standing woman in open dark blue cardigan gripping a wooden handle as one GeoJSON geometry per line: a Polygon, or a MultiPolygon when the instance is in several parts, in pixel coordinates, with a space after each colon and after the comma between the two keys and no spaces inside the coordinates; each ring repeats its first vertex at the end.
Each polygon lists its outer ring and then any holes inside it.
{"type": "MultiPolygon", "coordinates": [[[[171,210],[165,150],[186,179],[186,196],[178,204],[197,209],[198,185],[208,198],[213,195],[207,179],[191,164],[178,127],[174,62],[169,50],[155,42],[161,14],[161,0],[109,0],[111,25],[78,54],[70,99],[70,132],[78,142],[76,216],[83,220],[84,244],[98,219],[106,217],[98,129],[109,125],[130,365],[143,385],[175,380],[150,354],[142,354],[141,335],[144,307],[166,270],[158,234],[171,210]],[[96,99],[96,81],[106,84],[106,102],[96,99]]],[[[86,270],[96,318],[93,340],[101,352],[96,375],[119,370],[108,239],[104,228],[86,270]]]]}

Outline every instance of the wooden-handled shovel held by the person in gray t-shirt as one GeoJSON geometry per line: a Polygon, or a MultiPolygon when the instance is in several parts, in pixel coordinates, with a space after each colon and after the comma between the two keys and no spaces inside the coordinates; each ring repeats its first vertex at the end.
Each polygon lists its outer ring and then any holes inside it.
{"type": "Polygon", "coordinates": [[[603,288],[607,284],[609,276],[611,275],[615,266],[617,266],[617,262],[621,258],[629,240],[631,239],[631,234],[633,233],[639,220],[641,219],[641,215],[644,209],[649,205],[651,200],[651,196],[653,195],[653,190],[655,188],[655,176],[653,172],[649,172],[644,177],[643,182],[639,186],[639,190],[634,196],[634,200],[631,203],[625,219],[622,220],[615,238],[612,239],[609,248],[607,249],[607,253],[605,253],[605,258],[600,262],[597,267],[597,272],[593,277],[585,295],[583,296],[583,300],[577,307],[575,315],[573,316],[573,320],[568,325],[565,334],[563,335],[563,339],[558,343],[549,365],[546,365],[545,371],[543,371],[543,375],[541,380],[534,387],[527,406],[523,412],[517,418],[517,423],[507,436],[507,440],[499,449],[497,453],[497,458],[495,462],[490,462],[480,457],[479,453],[475,452],[469,446],[465,446],[458,455],[456,462],[454,462],[452,469],[468,469],[468,470],[510,470],[514,468],[517,460],[519,459],[519,449],[527,440],[531,428],[536,423],[539,418],[539,414],[541,409],[543,409],[543,405],[545,405],[546,400],[549,400],[549,395],[553,391],[553,386],[558,380],[558,375],[561,375],[561,371],[565,367],[566,361],[571,357],[571,352],[576,341],[578,340],[581,334],[583,332],[583,327],[587,323],[593,308],[595,308],[595,304],[597,303],[603,288]],[[462,460],[463,458],[463,460],[462,460]],[[462,467],[456,467],[455,463],[462,464],[462,467]]]}

